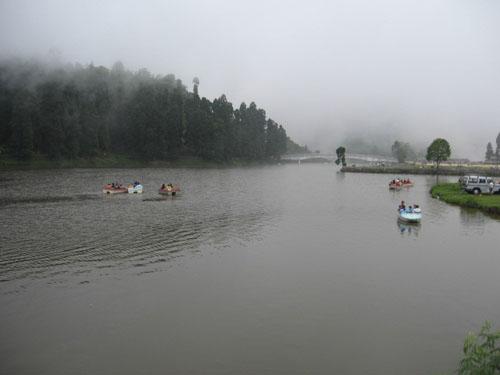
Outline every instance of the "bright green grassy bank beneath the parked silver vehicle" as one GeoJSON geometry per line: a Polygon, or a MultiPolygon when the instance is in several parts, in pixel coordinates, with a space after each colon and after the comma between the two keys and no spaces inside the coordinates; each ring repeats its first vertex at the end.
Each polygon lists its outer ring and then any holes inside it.
{"type": "Polygon", "coordinates": [[[473,195],[462,190],[457,183],[434,185],[431,189],[433,198],[462,207],[478,208],[489,214],[500,215],[500,195],[473,195]]]}

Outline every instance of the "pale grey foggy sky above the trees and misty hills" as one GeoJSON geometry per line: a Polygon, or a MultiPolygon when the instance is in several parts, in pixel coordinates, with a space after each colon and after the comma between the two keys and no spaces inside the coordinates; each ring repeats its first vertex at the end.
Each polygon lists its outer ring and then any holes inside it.
{"type": "Polygon", "coordinates": [[[500,1],[0,0],[0,55],[173,73],[255,101],[324,151],[352,131],[450,141],[500,132],[500,1]]]}

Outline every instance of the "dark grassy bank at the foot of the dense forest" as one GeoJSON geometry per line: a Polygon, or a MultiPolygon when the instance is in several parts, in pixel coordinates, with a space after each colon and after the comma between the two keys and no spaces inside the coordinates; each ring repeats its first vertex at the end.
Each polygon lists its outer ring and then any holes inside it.
{"type": "Polygon", "coordinates": [[[272,161],[248,161],[233,159],[225,162],[207,161],[199,158],[144,161],[113,154],[89,159],[50,160],[33,158],[30,161],[0,159],[0,170],[70,169],[70,168],[225,168],[271,164],[272,161]]]}

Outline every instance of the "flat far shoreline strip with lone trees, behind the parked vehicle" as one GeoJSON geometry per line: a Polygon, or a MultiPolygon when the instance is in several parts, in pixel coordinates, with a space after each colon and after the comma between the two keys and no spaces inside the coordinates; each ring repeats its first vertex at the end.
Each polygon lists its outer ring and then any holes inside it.
{"type": "Polygon", "coordinates": [[[494,166],[449,166],[444,165],[436,171],[434,166],[427,165],[394,165],[394,166],[347,166],[342,167],[341,172],[346,173],[380,173],[393,175],[447,175],[447,176],[464,176],[464,175],[480,175],[480,176],[500,176],[500,168],[494,166]],[[439,172],[439,173],[437,173],[439,172]]]}

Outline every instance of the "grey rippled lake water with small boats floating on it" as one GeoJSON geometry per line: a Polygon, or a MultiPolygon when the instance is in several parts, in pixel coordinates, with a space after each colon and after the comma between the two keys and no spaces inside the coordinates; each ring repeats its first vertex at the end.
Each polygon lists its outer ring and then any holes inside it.
{"type": "Polygon", "coordinates": [[[450,373],[468,330],[500,324],[500,221],[389,178],[1,172],[0,373],[450,373]],[[143,195],[100,192],[136,179],[143,195]]]}

